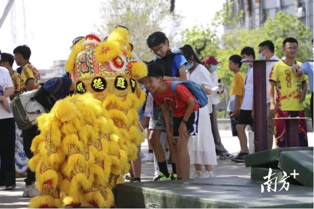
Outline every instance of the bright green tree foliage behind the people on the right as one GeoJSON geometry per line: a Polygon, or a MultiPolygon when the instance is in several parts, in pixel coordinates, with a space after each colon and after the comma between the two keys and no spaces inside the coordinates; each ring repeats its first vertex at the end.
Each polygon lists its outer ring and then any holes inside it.
{"type": "MultiPolygon", "coordinates": [[[[283,41],[287,37],[294,37],[299,42],[298,61],[309,58],[311,54],[311,32],[298,18],[292,14],[278,12],[275,18],[268,19],[262,27],[248,30],[238,27],[242,13],[235,14],[231,11],[233,2],[225,4],[224,9],[218,11],[211,27],[195,25],[182,32],[182,44],[190,44],[197,55],[204,59],[206,56],[215,56],[221,61],[216,71],[227,90],[230,89],[234,77],[229,70],[229,57],[240,54],[245,46],[251,46],[258,57],[258,45],[265,40],[273,41],[277,57],[284,57],[283,41]],[[227,9],[229,8],[229,9],[227,9]],[[229,29],[222,36],[217,36],[217,25],[223,24],[229,29]],[[205,44],[204,44],[205,43],[205,44]],[[204,46],[205,45],[205,46],[204,46]]],[[[242,65],[241,71],[246,74],[248,67],[242,65]]]]}

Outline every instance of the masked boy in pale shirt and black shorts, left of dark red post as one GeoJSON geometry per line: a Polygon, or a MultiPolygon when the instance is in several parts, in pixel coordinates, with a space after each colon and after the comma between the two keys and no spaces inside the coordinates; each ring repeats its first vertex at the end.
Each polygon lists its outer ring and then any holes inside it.
{"type": "MultiPolygon", "coordinates": [[[[241,51],[242,61],[255,60],[255,51],[252,47],[246,46],[241,51]]],[[[254,120],[252,117],[253,109],[253,63],[243,63],[245,66],[250,66],[247,71],[245,83],[244,83],[244,97],[240,110],[240,115],[236,124],[237,137],[240,141],[241,151],[232,161],[236,163],[245,163],[244,156],[249,154],[249,148],[247,146],[247,137],[245,134],[245,128],[250,125],[254,130],[254,120]]]]}

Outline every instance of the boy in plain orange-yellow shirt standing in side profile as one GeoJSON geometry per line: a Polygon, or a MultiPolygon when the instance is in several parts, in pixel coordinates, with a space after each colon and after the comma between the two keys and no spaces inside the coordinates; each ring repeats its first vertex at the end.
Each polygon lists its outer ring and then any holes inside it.
{"type": "Polygon", "coordinates": [[[242,66],[241,60],[242,58],[240,55],[232,55],[229,58],[229,69],[235,73],[235,77],[232,81],[232,88],[227,111],[230,113],[231,130],[234,137],[237,136],[235,126],[240,113],[244,95],[244,76],[242,72],[240,72],[240,68],[242,66]]]}

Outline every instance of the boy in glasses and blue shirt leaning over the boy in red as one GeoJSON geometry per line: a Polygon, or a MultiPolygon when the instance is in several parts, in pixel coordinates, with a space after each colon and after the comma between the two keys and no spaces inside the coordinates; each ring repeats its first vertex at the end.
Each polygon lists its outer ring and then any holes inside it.
{"type": "MultiPolygon", "coordinates": [[[[188,64],[182,51],[179,49],[172,49],[169,46],[169,40],[163,32],[155,32],[147,38],[147,46],[151,49],[151,52],[156,55],[154,61],[161,65],[164,70],[163,80],[165,81],[185,81],[186,69],[185,65],[191,68],[191,64],[188,64]]],[[[172,114],[171,114],[172,115],[172,114]]],[[[170,126],[173,127],[173,116],[170,119],[170,126]]],[[[166,130],[164,118],[160,107],[154,103],[154,116],[149,122],[150,136],[149,140],[152,144],[154,154],[156,156],[159,176],[154,180],[165,181],[171,180],[171,176],[168,172],[166,157],[164,153],[164,147],[160,143],[161,132],[166,130]]],[[[172,128],[171,130],[172,131],[172,128]]],[[[171,153],[173,153],[170,148],[171,153]]],[[[177,177],[176,159],[171,155],[172,172],[174,173],[172,179],[177,177]]]]}

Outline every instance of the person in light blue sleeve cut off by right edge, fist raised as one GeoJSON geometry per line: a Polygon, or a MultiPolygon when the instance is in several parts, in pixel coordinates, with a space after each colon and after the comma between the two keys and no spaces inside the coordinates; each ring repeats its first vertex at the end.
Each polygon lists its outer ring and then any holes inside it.
{"type": "MultiPolygon", "coordinates": [[[[312,54],[314,55],[314,39],[312,39],[312,54]]],[[[314,130],[314,63],[313,62],[305,62],[301,65],[301,68],[298,64],[294,64],[292,66],[292,71],[294,74],[298,75],[308,75],[309,76],[309,86],[310,91],[312,93],[311,96],[311,117],[312,117],[312,126],[314,130]]]]}

